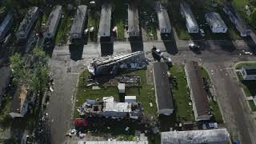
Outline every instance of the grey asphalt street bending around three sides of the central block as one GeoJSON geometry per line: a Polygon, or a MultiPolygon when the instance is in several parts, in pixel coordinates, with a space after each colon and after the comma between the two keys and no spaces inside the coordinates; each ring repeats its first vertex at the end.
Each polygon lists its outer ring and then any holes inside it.
{"type": "Polygon", "coordinates": [[[89,43],[83,47],[81,59],[71,59],[69,46],[55,46],[51,58],[51,68],[54,74],[54,93],[50,98],[49,116],[51,120],[51,141],[62,143],[66,138],[66,131],[70,126],[71,110],[74,102],[75,87],[79,72],[85,69],[90,60],[100,57],[102,51],[109,51],[110,54],[127,54],[134,50],[143,50],[146,57],[153,60],[150,50],[156,46],[164,51],[166,56],[172,58],[174,63],[181,64],[187,60],[195,60],[206,67],[206,70],[216,70],[211,75],[214,87],[217,92],[217,99],[222,109],[225,125],[230,130],[232,138],[242,140],[242,143],[256,143],[255,120],[251,117],[250,110],[234,79],[231,66],[239,61],[256,60],[254,55],[245,54],[251,51],[246,42],[235,41],[206,41],[200,44],[204,46],[201,53],[194,53],[188,50],[187,41],[176,41],[178,46],[176,53],[174,42],[114,42],[113,45],[102,46],[99,43],[89,43]],[[102,50],[104,49],[104,50],[102,50]],[[107,50],[106,50],[107,49],[107,50]],[[108,50],[110,49],[110,50],[108,50]],[[222,71],[219,70],[222,67],[222,71]],[[71,72],[67,73],[70,67],[71,72]],[[227,74],[227,75],[226,75],[227,74]]]}

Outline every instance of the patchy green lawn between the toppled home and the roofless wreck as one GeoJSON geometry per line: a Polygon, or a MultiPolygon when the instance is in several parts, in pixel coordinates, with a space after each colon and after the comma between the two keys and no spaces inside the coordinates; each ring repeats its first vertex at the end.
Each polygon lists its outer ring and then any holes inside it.
{"type": "MultiPolygon", "coordinates": [[[[142,102],[144,108],[144,114],[146,116],[157,116],[157,107],[154,98],[154,86],[148,86],[146,84],[146,71],[137,70],[130,72],[128,74],[137,74],[141,76],[141,86],[126,87],[126,95],[137,96],[137,102],[142,102]],[[153,103],[153,107],[150,107],[150,102],[153,103]]],[[[75,103],[74,118],[79,118],[78,107],[82,106],[86,99],[99,99],[102,100],[103,97],[113,96],[114,100],[119,102],[122,97],[119,97],[117,86],[107,86],[102,87],[101,90],[92,90],[90,87],[86,86],[86,78],[89,76],[87,70],[83,71],[79,77],[78,90],[77,90],[77,102],[75,103]]]]}

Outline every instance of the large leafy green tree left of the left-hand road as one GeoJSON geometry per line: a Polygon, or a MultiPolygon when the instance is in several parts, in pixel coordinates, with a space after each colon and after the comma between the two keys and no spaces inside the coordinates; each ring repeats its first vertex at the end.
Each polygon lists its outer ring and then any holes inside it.
{"type": "MultiPolygon", "coordinates": [[[[15,84],[21,83],[35,93],[46,90],[48,86],[50,66],[49,57],[37,46],[25,59],[16,53],[10,58],[15,84]]],[[[17,85],[16,85],[17,86],[17,85]]]]}

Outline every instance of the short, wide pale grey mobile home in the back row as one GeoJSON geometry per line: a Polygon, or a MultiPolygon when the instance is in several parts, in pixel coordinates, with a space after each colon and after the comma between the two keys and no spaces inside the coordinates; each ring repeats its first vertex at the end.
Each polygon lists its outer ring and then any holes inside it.
{"type": "Polygon", "coordinates": [[[218,13],[210,12],[205,15],[206,22],[213,33],[226,33],[227,26],[218,13]]]}

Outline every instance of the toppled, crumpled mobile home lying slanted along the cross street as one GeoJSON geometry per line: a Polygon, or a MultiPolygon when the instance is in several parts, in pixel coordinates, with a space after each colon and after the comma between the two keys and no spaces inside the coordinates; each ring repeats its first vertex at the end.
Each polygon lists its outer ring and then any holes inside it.
{"type": "Polygon", "coordinates": [[[92,75],[117,74],[118,70],[140,70],[144,68],[146,68],[146,58],[142,51],[94,58],[88,66],[92,75]]]}

